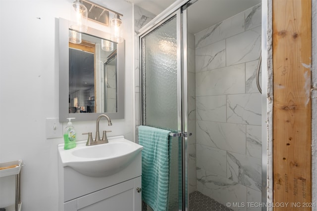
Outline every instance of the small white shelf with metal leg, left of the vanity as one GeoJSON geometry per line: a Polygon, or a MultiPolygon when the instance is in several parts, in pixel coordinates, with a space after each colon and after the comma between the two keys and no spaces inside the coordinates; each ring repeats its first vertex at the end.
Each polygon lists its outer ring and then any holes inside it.
{"type": "Polygon", "coordinates": [[[20,201],[20,171],[22,167],[22,160],[0,163],[0,168],[11,166],[16,167],[0,170],[0,178],[15,175],[15,204],[5,207],[4,209],[5,211],[21,211],[22,204],[20,201]]]}

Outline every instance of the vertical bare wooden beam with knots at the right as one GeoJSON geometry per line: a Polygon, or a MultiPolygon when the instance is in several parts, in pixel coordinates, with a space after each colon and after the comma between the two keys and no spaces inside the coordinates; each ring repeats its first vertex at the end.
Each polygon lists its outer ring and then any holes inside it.
{"type": "Polygon", "coordinates": [[[313,206],[311,35],[311,0],[273,0],[274,211],[313,206]]]}

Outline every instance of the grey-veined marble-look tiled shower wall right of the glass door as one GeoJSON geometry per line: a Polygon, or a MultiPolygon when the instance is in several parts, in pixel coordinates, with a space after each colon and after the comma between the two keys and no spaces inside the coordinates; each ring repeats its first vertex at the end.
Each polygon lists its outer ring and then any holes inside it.
{"type": "Polygon", "coordinates": [[[222,204],[261,202],[260,52],[261,4],[195,34],[197,190],[222,204]]]}

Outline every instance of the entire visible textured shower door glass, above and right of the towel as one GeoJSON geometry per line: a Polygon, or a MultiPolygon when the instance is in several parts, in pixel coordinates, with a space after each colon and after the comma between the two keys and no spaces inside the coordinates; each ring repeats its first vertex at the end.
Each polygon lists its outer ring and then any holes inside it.
{"type": "MultiPolygon", "coordinates": [[[[181,131],[181,73],[179,17],[167,19],[140,37],[142,125],[181,131]]],[[[181,137],[169,145],[168,211],[182,206],[181,137]]]]}

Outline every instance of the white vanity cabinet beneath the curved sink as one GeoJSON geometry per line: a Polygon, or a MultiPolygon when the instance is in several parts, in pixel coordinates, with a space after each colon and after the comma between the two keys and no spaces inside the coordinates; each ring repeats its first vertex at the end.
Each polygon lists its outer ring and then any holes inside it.
{"type": "Polygon", "coordinates": [[[59,211],[141,211],[141,152],[124,169],[87,176],[58,159],[59,211]]]}

